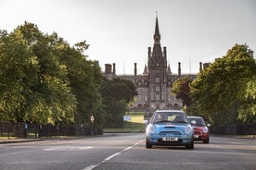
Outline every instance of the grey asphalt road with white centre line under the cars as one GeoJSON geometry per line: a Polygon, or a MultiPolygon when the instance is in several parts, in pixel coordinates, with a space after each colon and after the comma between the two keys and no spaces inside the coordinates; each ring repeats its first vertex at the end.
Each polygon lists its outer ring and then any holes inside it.
{"type": "Polygon", "coordinates": [[[1,170],[256,169],[256,140],[211,136],[209,144],[145,148],[143,133],[0,144],[1,170]]]}

